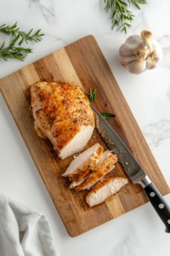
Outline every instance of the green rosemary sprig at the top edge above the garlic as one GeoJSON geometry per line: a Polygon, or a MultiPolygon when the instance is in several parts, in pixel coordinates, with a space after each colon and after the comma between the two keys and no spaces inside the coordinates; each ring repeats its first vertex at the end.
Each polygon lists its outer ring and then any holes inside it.
{"type": "MultiPolygon", "coordinates": [[[[147,3],[145,0],[127,0],[129,3],[129,7],[131,3],[133,3],[138,9],[139,3],[144,4],[147,3]]],[[[113,23],[112,29],[115,26],[119,26],[117,31],[122,28],[122,31],[127,33],[127,27],[130,27],[131,24],[127,23],[127,20],[130,22],[133,20],[134,15],[131,11],[127,9],[127,3],[125,3],[122,0],[104,0],[106,3],[105,9],[108,12],[109,9],[111,9],[112,17],[111,17],[111,23],[113,23]],[[120,22],[122,22],[122,25],[120,26],[120,22]]]]}

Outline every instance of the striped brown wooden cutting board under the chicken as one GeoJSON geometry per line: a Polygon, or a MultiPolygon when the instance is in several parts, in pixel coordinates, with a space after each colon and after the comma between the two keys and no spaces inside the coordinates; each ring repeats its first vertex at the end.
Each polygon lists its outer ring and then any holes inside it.
{"type": "MultiPolygon", "coordinates": [[[[93,208],[89,208],[85,202],[87,191],[76,194],[73,189],[68,189],[69,180],[61,177],[61,174],[71,163],[72,157],[59,160],[52,144],[48,140],[42,141],[34,132],[29,110],[30,85],[42,80],[78,84],[84,92],[90,88],[96,89],[94,107],[99,112],[116,114],[116,118],[109,119],[113,129],[161,194],[170,192],[99,45],[93,36],[82,38],[0,80],[3,97],[70,236],[78,236],[148,200],[140,185],[130,181],[116,195],[93,208]]],[[[94,143],[101,143],[106,149],[97,131],[94,131],[93,137],[85,149],[94,143]]],[[[126,177],[121,164],[116,164],[111,176],[126,177]]]]}

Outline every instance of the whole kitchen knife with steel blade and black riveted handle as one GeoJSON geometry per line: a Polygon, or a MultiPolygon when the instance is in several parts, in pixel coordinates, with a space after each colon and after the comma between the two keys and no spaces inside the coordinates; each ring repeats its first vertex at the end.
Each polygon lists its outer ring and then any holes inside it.
{"type": "Polygon", "coordinates": [[[133,183],[139,183],[144,188],[150,203],[155,208],[157,214],[166,226],[166,232],[170,233],[170,207],[163,199],[156,186],[150,181],[143,168],[135,160],[133,154],[128,150],[126,145],[122,143],[120,137],[111,128],[111,125],[101,116],[101,114],[91,105],[94,111],[96,128],[101,137],[103,137],[108,148],[117,155],[119,162],[122,163],[127,176],[133,183]]]}

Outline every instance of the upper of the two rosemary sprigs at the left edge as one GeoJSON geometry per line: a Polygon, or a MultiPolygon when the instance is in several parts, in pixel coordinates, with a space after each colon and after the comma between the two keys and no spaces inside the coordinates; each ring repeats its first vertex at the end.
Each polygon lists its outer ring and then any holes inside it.
{"type": "Polygon", "coordinates": [[[42,36],[44,34],[40,34],[41,29],[39,29],[37,32],[35,32],[33,35],[31,35],[31,32],[33,31],[33,28],[31,29],[30,32],[26,34],[26,32],[20,31],[20,27],[17,27],[17,22],[14,23],[13,26],[6,26],[6,24],[3,24],[3,26],[0,26],[0,33],[5,33],[6,35],[12,35],[12,37],[17,37],[21,38],[20,42],[18,45],[21,45],[22,43],[27,41],[41,41],[42,36]]]}

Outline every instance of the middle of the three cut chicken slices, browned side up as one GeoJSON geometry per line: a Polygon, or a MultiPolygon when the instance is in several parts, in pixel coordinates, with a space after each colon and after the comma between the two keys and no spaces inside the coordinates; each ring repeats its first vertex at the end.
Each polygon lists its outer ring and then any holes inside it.
{"type": "Polygon", "coordinates": [[[78,192],[83,189],[91,189],[95,183],[99,182],[99,180],[105,176],[106,173],[111,172],[114,169],[114,164],[116,162],[116,154],[112,154],[110,150],[105,151],[94,171],[91,172],[86,180],[78,185],[75,190],[78,192]]]}

